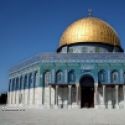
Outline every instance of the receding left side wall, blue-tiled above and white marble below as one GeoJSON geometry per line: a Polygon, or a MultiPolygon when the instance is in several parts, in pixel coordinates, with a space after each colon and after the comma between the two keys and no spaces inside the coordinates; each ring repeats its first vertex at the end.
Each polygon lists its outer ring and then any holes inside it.
{"type": "Polygon", "coordinates": [[[39,86],[38,71],[26,73],[9,80],[9,104],[35,104],[35,88],[39,86]],[[33,93],[30,102],[30,93],[33,93]]]}

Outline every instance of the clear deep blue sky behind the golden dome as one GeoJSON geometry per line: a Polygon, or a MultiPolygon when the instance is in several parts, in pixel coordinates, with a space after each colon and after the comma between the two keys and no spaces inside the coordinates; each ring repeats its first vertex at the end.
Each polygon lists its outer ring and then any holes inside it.
{"type": "Polygon", "coordinates": [[[8,70],[41,52],[55,52],[65,28],[88,15],[111,24],[125,49],[125,0],[0,0],[0,92],[8,70]]]}

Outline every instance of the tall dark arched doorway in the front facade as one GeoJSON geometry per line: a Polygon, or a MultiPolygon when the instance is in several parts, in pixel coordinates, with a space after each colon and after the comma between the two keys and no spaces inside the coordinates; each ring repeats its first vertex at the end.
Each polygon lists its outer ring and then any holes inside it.
{"type": "Polygon", "coordinates": [[[80,79],[81,108],[94,107],[94,79],[90,75],[84,75],[80,79]]]}

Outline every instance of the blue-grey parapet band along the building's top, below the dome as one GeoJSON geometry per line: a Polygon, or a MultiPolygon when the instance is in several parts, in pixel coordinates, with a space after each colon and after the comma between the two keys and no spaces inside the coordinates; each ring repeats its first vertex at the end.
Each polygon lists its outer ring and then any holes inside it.
{"type": "Polygon", "coordinates": [[[125,54],[114,53],[42,53],[24,60],[12,67],[9,72],[33,66],[40,63],[125,63],[125,54]]]}

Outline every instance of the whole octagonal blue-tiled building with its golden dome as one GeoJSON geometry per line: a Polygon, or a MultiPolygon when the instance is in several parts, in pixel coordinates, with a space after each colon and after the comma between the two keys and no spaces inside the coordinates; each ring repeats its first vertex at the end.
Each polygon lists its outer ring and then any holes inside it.
{"type": "Polygon", "coordinates": [[[55,53],[9,70],[8,105],[125,108],[125,54],[114,28],[87,16],[66,28],[55,53]]]}

